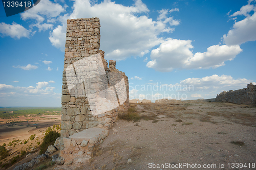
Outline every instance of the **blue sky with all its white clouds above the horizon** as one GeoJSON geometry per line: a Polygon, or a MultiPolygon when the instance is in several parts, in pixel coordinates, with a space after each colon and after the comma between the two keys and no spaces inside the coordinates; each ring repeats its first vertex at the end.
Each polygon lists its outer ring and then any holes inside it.
{"type": "Polygon", "coordinates": [[[0,107],[61,106],[71,18],[99,17],[100,49],[128,76],[130,99],[209,99],[256,84],[254,11],[255,1],[41,0],[6,17],[0,5],[0,107]]]}

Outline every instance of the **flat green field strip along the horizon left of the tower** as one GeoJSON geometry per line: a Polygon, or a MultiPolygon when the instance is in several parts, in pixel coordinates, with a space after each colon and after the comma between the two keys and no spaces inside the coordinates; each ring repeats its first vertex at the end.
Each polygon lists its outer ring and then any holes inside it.
{"type": "Polygon", "coordinates": [[[17,118],[18,116],[60,115],[60,107],[13,107],[0,108],[0,118],[17,118]],[[13,111],[13,113],[10,113],[13,111]]]}

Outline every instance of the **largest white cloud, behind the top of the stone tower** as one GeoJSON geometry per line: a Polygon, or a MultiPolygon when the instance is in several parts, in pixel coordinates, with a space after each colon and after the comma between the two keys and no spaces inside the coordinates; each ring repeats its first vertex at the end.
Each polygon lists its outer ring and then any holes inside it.
{"type": "Polygon", "coordinates": [[[174,19],[154,21],[148,18],[146,12],[149,10],[140,0],[128,7],[111,1],[92,5],[88,0],[76,0],[73,9],[72,14],[61,18],[62,26],[55,28],[49,37],[52,45],[61,48],[62,51],[65,47],[66,19],[68,18],[99,17],[101,49],[105,51],[106,59],[114,60],[142,56],[162,42],[162,38],[159,38],[161,33],[174,31],[174,28],[169,28],[174,24],[174,19]]]}

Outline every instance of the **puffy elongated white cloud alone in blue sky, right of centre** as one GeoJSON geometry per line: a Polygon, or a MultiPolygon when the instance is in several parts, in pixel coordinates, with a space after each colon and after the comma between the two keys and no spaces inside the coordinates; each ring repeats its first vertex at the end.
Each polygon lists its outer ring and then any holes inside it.
{"type": "Polygon", "coordinates": [[[225,65],[225,61],[232,60],[242,51],[239,45],[212,45],[207,48],[207,52],[193,54],[191,48],[194,48],[191,40],[167,38],[151,51],[151,61],[146,66],[161,72],[174,68],[216,68],[225,65]]]}

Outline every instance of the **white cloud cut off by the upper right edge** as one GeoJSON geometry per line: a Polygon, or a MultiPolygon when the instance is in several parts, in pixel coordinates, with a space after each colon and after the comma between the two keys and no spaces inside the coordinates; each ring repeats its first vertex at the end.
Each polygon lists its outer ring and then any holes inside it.
{"type": "Polygon", "coordinates": [[[232,29],[228,31],[227,35],[223,35],[225,44],[236,45],[256,40],[256,6],[250,5],[250,3],[251,1],[248,1],[248,4],[243,6],[240,11],[230,15],[232,17],[243,15],[245,16],[245,19],[238,22],[235,21],[232,29]],[[254,11],[252,15],[250,15],[251,11],[254,11]]]}

